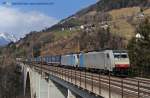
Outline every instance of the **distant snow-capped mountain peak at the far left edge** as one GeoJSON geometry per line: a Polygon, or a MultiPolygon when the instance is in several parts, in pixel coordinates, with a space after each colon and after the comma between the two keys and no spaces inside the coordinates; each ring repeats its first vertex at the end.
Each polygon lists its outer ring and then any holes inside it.
{"type": "Polygon", "coordinates": [[[7,45],[10,42],[16,42],[17,39],[13,34],[10,33],[0,33],[0,46],[7,45]]]}

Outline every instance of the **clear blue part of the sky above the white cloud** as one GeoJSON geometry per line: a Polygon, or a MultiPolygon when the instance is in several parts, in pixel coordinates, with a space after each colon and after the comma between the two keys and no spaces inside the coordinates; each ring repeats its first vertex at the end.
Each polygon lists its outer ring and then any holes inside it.
{"type": "Polygon", "coordinates": [[[11,2],[53,2],[53,5],[16,5],[12,7],[24,11],[40,11],[57,19],[62,19],[94,4],[96,0],[11,0],[11,2]]]}

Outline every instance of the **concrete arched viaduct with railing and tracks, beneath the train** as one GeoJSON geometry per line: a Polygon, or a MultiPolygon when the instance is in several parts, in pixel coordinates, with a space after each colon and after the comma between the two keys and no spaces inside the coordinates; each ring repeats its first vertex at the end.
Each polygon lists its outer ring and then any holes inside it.
{"type": "MultiPolygon", "coordinates": [[[[132,85],[128,86],[127,80],[115,84],[119,80],[107,80],[100,75],[98,79],[89,73],[74,70],[66,72],[66,69],[59,67],[33,66],[22,62],[18,64],[23,75],[24,96],[30,98],[150,98],[150,87],[147,91],[137,88],[133,92],[127,89],[133,88],[132,85]]],[[[138,82],[135,85],[139,86],[138,82]]]]}

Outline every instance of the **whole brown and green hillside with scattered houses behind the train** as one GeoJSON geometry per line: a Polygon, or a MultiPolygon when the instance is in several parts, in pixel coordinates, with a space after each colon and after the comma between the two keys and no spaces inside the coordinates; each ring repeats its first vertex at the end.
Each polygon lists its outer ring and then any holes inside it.
{"type": "Polygon", "coordinates": [[[50,28],[28,34],[16,43],[20,49],[16,52],[30,56],[32,49],[40,50],[40,55],[77,52],[78,42],[80,51],[125,49],[147,15],[150,0],[100,0],[50,28]]]}

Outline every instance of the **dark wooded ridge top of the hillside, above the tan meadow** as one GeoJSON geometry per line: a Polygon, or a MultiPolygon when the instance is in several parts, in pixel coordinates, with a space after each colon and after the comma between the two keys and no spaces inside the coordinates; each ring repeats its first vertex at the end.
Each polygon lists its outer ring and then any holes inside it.
{"type": "Polygon", "coordinates": [[[113,9],[120,9],[126,7],[150,7],[150,0],[99,0],[96,4],[93,4],[81,11],[76,15],[82,16],[90,11],[109,11],[113,9]]]}

